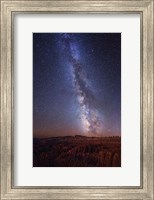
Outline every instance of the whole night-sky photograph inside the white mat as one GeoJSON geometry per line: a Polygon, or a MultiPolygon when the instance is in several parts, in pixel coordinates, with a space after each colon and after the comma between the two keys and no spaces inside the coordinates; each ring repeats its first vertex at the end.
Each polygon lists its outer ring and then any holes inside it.
{"type": "Polygon", "coordinates": [[[33,33],[33,167],[120,167],[120,94],[121,33],[33,33]]]}

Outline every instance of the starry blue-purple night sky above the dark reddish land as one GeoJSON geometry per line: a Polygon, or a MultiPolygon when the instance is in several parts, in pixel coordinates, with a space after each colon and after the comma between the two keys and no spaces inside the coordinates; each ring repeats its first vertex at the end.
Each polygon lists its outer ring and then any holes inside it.
{"type": "Polygon", "coordinates": [[[33,133],[121,135],[120,33],[33,33],[33,133]]]}

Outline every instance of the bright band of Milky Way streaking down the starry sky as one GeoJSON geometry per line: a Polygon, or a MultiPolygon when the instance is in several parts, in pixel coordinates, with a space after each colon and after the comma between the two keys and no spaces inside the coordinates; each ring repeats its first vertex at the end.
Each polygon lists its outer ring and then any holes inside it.
{"type": "Polygon", "coordinates": [[[100,119],[97,114],[96,108],[92,107],[94,101],[94,94],[88,85],[87,77],[84,73],[84,66],[80,61],[79,49],[77,41],[73,40],[72,34],[61,34],[62,48],[64,54],[69,59],[70,66],[72,67],[72,80],[77,99],[80,105],[80,116],[85,133],[97,134],[101,130],[100,119]]]}

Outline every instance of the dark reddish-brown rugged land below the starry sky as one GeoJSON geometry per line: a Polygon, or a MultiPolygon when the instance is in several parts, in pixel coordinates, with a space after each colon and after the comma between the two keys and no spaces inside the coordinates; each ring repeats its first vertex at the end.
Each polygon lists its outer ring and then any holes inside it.
{"type": "Polygon", "coordinates": [[[121,137],[33,139],[33,167],[120,167],[121,137]]]}

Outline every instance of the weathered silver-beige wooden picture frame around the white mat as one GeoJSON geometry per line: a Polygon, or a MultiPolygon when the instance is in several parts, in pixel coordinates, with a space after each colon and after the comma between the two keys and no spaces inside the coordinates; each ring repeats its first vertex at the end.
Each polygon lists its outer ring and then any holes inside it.
{"type": "Polygon", "coordinates": [[[153,190],[153,0],[1,0],[1,199],[144,199],[153,190]],[[138,13],[141,26],[141,185],[14,186],[13,19],[17,13],[138,13]]]}

